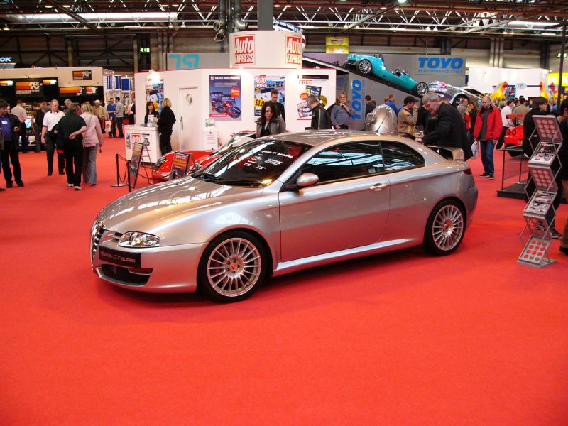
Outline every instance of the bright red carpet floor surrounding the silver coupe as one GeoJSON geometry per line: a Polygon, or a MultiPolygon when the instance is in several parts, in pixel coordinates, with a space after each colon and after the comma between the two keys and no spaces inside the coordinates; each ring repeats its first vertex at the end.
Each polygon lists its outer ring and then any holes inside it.
{"type": "Polygon", "coordinates": [[[477,179],[452,256],[339,263],[217,305],[92,273],[89,227],[126,192],[117,152],[81,192],[21,155],[26,187],[0,193],[1,425],[568,424],[568,256],[555,241],[554,265],[515,263],[524,202],[499,179],[477,179]]]}

